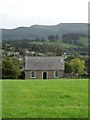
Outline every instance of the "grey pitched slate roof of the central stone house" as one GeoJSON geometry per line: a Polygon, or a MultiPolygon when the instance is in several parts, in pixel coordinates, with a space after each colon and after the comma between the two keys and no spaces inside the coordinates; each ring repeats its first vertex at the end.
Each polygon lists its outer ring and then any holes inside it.
{"type": "Polygon", "coordinates": [[[25,70],[64,70],[63,57],[25,57],[25,70]]]}

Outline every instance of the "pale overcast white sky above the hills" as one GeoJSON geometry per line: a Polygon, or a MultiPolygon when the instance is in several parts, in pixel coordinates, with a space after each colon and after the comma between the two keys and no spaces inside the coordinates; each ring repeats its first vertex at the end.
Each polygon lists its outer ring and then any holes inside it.
{"type": "Polygon", "coordinates": [[[0,0],[0,28],[88,23],[88,0],[0,0]]]}

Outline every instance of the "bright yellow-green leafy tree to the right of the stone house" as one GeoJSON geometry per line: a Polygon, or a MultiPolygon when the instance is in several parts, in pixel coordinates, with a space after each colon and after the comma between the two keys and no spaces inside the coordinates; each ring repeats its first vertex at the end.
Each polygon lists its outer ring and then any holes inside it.
{"type": "Polygon", "coordinates": [[[85,74],[85,61],[81,60],[80,58],[72,59],[70,62],[70,68],[72,73],[81,76],[85,74]]]}

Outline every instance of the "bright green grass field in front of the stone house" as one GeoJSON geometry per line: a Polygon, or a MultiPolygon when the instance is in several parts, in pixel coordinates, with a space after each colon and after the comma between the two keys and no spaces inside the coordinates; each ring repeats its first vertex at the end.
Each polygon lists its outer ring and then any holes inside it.
{"type": "Polygon", "coordinates": [[[3,80],[3,118],[88,117],[88,80],[3,80]]]}

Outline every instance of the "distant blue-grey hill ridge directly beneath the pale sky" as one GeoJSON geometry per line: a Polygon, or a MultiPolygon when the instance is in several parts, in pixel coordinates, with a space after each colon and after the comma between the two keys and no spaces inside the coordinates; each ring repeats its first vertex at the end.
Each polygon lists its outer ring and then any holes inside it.
{"type": "Polygon", "coordinates": [[[18,27],[15,29],[2,29],[3,40],[22,40],[47,38],[50,34],[61,37],[67,33],[88,34],[86,23],[61,23],[54,26],[33,25],[31,27],[18,27]]]}

